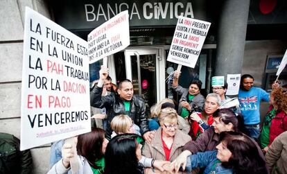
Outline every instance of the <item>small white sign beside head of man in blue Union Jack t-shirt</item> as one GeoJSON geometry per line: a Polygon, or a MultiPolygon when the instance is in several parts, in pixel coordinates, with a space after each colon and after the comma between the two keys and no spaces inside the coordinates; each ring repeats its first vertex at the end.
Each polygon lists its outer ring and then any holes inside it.
{"type": "Polygon", "coordinates": [[[227,92],[226,95],[237,95],[240,87],[240,73],[227,74],[227,92]]]}

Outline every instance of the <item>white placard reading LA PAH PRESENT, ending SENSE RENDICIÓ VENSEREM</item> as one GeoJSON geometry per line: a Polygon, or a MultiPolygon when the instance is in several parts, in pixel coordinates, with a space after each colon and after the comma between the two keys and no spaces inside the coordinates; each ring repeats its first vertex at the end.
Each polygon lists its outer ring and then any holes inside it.
{"type": "Polygon", "coordinates": [[[168,61],[194,68],[211,23],[179,17],[168,61]]]}

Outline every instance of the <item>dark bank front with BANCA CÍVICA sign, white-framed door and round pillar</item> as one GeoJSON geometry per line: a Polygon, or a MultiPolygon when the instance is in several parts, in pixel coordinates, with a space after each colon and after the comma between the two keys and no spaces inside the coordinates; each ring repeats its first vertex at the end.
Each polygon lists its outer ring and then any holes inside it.
{"type": "MultiPolygon", "coordinates": [[[[245,0],[50,1],[48,5],[56,23],[84,40],[94,28],[128,10],[131,44],[124,51],[111,55],[108,67],[114,83],[125,78],[132,80],[135,94],[143,96],[149,105],[162,98],[175,97],[165,79],[177,64],[166,58],[180,16],[211,22],[195,68],[184,67],[180,78],[184,87],[193,78],[202,80],[203,94],[210,92],[212,76],[226,77],[227,73],[250,73],[256,85],[270,89],[270,82],[275,78],[270,72],[274,73],[275,69],[268,71],[266,64],[276,64],[271,58],[279,58],[286,49],[286,33],[282,32],[287,23],[284,1],[274,4],[245,0]],[[257,30],[261,30],[262,35],[257,30]],[[279,40],[278,43],[275,40],[279,40]],[[276,45],[276,48],[264,44],[276,45]],[[247,55],[249,45],[265,50],[266,55],[247,55]]],[[[98,78],[100,64],[91,64],[91,81],[98,78]]],[[[283,75],[281,79],[286,77],[283,75]]]]}

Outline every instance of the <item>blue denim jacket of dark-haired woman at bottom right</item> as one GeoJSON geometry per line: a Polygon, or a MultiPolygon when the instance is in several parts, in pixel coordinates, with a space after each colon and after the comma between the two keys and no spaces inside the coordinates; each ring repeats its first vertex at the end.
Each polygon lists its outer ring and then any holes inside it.
{"type": "Polygon", "coordinates": [[[207,151],[205,153],[197,153],[195,155],[189,155],[186,162],[186,171],[191,172],[192,168],[205,168],[204,174],[208,173],[220,173],[220,174],[232,174],[232,168],[224,168],[221,163],[218,163],[216,157],[217,150],[207,151]]]}

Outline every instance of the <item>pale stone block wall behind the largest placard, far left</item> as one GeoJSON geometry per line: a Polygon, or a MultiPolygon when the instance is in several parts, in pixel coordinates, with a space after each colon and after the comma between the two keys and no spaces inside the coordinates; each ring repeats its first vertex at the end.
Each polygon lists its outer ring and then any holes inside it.
{"type": "MultiPolygon", "coordinates": [[[[44,0],[1,0],[0,132],[20,138],[21,73],[25,6],[51,19],[44,0]]],[[[31,149],[33,173],[49,170],[50,144],[31,149]]]]}

